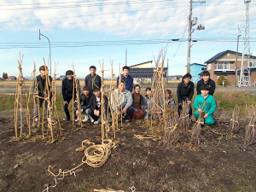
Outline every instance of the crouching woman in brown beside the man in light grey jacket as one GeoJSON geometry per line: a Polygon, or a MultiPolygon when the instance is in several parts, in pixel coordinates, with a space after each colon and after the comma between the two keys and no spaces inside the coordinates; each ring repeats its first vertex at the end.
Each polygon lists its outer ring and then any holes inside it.
{"type": "Polygon", "coordinates": [[[143,96],[140,94],[141,87],[138,84],[134,85],[134,93],[132,94],[132,107],[133,107],[133,113],[131,117],[131,121],[135,119],[143,119],[144,117],[144,111],[142,106],[144,105],[144,99],[143,96]]]}

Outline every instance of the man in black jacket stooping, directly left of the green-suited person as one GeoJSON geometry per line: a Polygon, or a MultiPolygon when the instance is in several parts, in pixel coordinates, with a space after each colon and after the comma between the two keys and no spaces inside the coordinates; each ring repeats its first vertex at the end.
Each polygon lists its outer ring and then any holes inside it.
{"type": "Polygon", "coordinates": [[[177,113],[180,115],[181,110],[183,109],[183,102],[188,102],[189,104],[189,117],[192,115],[191,100],[194,95],[194,83],[191,80],[190,73],[186,73],[183,76],[181,83],[177,85],[177,102],[178,108],[177,113]]]}

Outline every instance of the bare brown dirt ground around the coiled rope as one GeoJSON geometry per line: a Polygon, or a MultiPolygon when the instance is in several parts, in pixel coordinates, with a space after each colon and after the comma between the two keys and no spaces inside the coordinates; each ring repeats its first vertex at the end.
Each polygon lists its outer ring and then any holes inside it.
{"type": "Polygon", "coordinates": [[[0,191],[47,191],[47,186],[48,191],[131,191],[132,186],[135,191],[256,191],[256,145],[242,148],[241,131],[228,137],[224,123],[204,129],[205,140],[198,147],[189,144],[186,134],[172,147],[163,145],[163,133],[140,140],[134,134],[148,137],[152,128],[143,121],[129,123],[116,133],[119,146],[103,166],[84,164],[82,171],[57,179],[55,185],[48,166],[55,173],[78,166],[84,152],[75,149],[84,139],[101,143],[101,125],[81,128],[61,122],[62,137],[55,143],[43,140],[38,128],[32,129],[31,138],[15,142],[12,113],[0,113],[0,191]]]}

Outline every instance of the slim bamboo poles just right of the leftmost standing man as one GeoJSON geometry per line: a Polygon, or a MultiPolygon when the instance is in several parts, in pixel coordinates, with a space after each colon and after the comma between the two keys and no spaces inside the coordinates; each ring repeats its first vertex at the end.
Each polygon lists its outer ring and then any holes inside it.
{"type": "Polygon", "coordinates": [[[58,115],[58,110],[56,107],[56,70],[57,70],[58,64],[55,65],[55,70],[54,70],[54,76],[52,79],[52,83],[51,83],[51,90],[52,90],[52,97],[51,97],[51,106],[52,106],[52,119],[54,123],[57,123],[59,125],[59,131],[60,131],[60,135],[61,135],[61,122],[59,119],[59,115],[58,115]]]}

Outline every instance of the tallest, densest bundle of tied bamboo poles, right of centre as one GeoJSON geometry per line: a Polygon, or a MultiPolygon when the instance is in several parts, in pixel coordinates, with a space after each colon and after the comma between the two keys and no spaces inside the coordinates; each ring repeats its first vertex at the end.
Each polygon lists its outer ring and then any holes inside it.
{"type": "Polygon", "coordinates": [[[153,119],[160,122],[160,127],[166,131],[166,80],[164,79],[164,61],[166,57],[166,49],[161,49],[157,60],[155,61],[152,95],[153,108],[151,115],[151,126],[153,119]]]}

